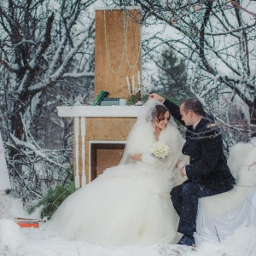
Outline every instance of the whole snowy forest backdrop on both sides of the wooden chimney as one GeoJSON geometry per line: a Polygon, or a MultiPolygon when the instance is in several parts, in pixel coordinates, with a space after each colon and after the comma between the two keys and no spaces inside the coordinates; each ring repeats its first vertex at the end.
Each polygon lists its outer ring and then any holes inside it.
{"type": "Polygon", "coordinates": [[[0,0],[0,131],[12,189],[26,206],[67,183],[73,119],[94,99],[94,8],[141,8],[143,84],[196,97],[224,148],[256,136],[256,1],[0,0]]]}

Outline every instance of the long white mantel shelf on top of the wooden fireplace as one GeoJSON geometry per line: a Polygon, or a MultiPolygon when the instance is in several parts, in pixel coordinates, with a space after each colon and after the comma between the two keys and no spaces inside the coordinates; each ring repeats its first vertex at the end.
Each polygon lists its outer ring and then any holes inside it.
{"type": "Polygon", "coordinates": [[[61,106],[60,117],[138,117],[144,106],[61,106]]]}

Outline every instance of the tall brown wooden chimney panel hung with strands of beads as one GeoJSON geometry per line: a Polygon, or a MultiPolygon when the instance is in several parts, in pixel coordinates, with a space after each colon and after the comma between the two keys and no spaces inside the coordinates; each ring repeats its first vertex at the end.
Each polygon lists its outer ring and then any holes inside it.
{"type": "MultiPolygon", "coordinates": [[[[140,10],[129,12],[140,18],[140,10]]],[[[123,10],[96,10],[95,42],[95,97],[108,90],[109,96],[127,99],[126,76],[134,75],[137,84],[142,70],[141,25],[123,10]]]]}

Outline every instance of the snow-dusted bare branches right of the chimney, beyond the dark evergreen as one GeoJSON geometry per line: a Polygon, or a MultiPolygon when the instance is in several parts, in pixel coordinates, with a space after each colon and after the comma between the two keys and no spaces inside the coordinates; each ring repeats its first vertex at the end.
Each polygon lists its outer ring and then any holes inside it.
{"type": "Polygon", "coordinates": [[[185,86],[224,125],[228,143],[256,136],[255,1],[114,0],[111,6],[127,5],[141,6],[136,22],[162,25],[150,38],[154,47],[143,42],[143,49],[154,55],[166,44],[188,61],[185,86]]]}

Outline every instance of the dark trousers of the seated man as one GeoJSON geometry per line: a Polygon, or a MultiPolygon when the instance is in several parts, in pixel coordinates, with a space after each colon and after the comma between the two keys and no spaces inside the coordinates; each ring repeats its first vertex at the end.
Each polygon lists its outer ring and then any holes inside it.
{"type": "Polygon", "coordinates": [[[184,182],[171,191],[172,204],[180,217],[177,232],[193,236],[198,209],[198,199],[216,195],[218,192],[208,189],[200,183],[184,182]]]}

